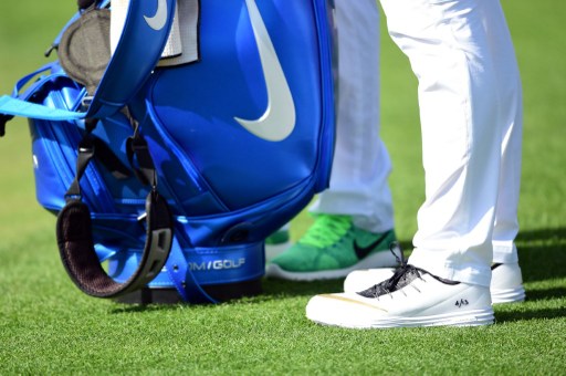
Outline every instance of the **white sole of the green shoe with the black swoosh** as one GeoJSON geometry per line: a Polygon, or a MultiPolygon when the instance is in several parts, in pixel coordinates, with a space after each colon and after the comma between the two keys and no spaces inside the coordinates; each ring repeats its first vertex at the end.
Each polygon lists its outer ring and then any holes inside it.
{"type": "Polygon", "coordinates": [[[397,265],[397,259],[389,250],[378,251],[360,260],[356,264],[336,270],[322,270],[315,272],[290,272],[280,265],[270,263],[265,269],[265,276],[289,280],[289,281],[316,281],[316,280],[334,280],[345,278],[350,272],[358,269],[368,268],[387,268],[397,265]]]}

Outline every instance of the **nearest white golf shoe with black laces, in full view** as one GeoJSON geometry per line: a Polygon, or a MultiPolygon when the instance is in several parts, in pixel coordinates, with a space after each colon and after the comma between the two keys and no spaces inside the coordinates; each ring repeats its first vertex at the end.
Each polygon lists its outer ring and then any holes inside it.
{"type": "Polygon", "coordinates": [[[493,324],[490,289],[448,281],[408,265],[361,292],[316,295],[308,320],[350,328],[493,324]]]}

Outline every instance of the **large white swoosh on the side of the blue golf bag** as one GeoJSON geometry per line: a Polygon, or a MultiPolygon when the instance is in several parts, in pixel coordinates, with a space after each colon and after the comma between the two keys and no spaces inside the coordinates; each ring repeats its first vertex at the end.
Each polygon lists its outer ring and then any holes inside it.
{"type": "Polygon", "coordinates": [[[280,142],[289,137],[296,123],[295,104],[285,73],[271,41],[268,28],[261,17],[255,0],[245,0],[248,12],[260,52],[261,65],[268,90],[268,108],[256,121],[234,119],[255,136],[280,142]]]}

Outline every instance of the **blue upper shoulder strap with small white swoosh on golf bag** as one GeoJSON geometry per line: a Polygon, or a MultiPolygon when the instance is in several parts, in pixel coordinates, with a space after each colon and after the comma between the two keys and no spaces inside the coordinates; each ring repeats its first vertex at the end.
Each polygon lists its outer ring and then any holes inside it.
{"type": "MultiPolygon", "coordinates": [[[[148,14],[156,14],[153,1],[132,0],[129,2],[126,22],[116,51],[112,55],[96,92],[90,101],[85,101],[86,111],[53,111],[39,104],[28,103],[12,94],[11,96],[0,96],[0,114],[3,114],[4,117],[23,116],[61,121],[104,118],[122,109],[150,76],[167,43],[176,1],[166,1],[165,3],[167,4],[166,9],[160,10],[158,14],[163,17],[163,22],[156,27],[155,23],[147,21],[150,19],[148,14]],[[135,69],[132,69],[133,66],[135,69]]],[[[76,19],[75,22],[81,22],[81,19],[76,19]]]]}

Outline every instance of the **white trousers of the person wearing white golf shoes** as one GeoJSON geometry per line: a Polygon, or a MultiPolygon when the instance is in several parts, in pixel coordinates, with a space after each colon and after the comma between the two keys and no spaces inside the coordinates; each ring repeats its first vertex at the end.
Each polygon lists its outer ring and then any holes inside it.
{"type": "Polygon", "coordinates": [[[426,201],[409,262],[489,285],[492,261],[517,261],[523,122],[500,1],[381,4],[389,33],[419,80],[426,201]]]}

